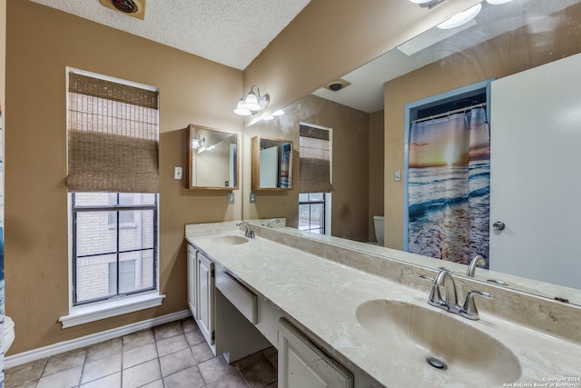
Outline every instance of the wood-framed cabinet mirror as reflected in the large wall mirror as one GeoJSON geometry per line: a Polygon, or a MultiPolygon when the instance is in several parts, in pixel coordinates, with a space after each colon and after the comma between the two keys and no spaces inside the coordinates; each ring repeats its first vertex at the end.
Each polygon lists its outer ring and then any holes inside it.
{"type": "Polygon", "coordinates": [[[252,190],[292,188],[292,141],[254,136],[251,140],[252,190]]]}

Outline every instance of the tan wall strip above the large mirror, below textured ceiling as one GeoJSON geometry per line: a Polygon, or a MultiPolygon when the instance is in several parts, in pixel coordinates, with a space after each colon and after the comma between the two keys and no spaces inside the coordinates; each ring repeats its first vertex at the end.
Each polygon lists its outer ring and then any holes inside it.
{"type": "Polygon", "coordinates": [[[404,0],[312,0],[244,69],[244,89],[269,93],[272,112],[480,1],[448,0],[428,11],[404,0]]]}

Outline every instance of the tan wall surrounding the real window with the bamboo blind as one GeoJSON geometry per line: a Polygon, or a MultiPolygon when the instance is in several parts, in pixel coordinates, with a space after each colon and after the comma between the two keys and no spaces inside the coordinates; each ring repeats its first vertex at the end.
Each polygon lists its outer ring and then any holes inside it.
{"type": "Polygon", "coordinates": [[[241,218],[224,192],[184,189],[188,124],[241,132],[232,113],[242,74],[197,56],[67,15],[8,0],[6,43],[5,307],[20,353],[187,308],[184,224],[241,218]],[[69,329],[65,66],[160,88],[159,308],[69,329]]]}

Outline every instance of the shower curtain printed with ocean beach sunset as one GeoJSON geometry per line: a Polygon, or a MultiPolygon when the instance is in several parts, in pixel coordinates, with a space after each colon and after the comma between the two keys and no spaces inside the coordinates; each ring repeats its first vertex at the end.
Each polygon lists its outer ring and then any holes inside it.
{"type": "Polygon", "coordinates": [[[411,124],[408,251],[488,266],[490,135],[486,110],[411,124]]]}

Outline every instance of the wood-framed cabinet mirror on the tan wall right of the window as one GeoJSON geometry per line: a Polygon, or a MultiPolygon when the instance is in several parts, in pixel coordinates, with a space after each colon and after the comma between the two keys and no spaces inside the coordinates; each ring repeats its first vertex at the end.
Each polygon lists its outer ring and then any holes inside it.
{"type": "Polygon", "coordinates": [[[188,188],[237,190],[238,134],[202,125],[188,127],[188,188]]]}

